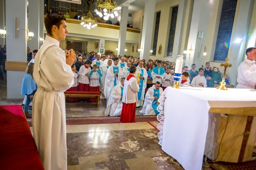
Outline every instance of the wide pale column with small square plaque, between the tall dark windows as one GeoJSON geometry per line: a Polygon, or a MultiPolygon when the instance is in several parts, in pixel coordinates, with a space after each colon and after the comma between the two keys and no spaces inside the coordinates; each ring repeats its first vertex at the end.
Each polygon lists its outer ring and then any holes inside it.
{"type": "Polygon", "coordinates": [[[210,11],[211,11],[210,1],[203,1],[203,0],[194,1],[194,7],[193,7],[193,13],[192,13],[191,25],[190,25],[190,31],[189,31],[189,40],[187,45],[187,48],[188,48],[187,50],[189,50],[191,47],[193,51],[191,51],[190,58],[189,58],[189,55],[187,54],[186,62],[185,62],[185,65],[188,66],[188,68],[191,68],[191,65],[193,63],[197,65],[197,68],[199,68],[202,65],[204,46],[205,46],[207,30],[209,25],[210,11]],[[200,51],[201,44],[202,44],[202,48],[200,51]]]}

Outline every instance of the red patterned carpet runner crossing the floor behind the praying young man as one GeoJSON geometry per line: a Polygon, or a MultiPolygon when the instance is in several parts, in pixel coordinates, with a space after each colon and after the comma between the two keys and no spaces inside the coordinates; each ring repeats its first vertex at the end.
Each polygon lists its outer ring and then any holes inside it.
{"type": "MultiPolygon", "coordinates": [[[[28,124],[32,127],[32,119],[27,118],[28,124]]],[[[136,122],[151,122],[157,121],[156,115],[149,116],[135,116],[136,122]]],[[[67,117],[67,125],[81,125],[81,124],[109,124],[121,123],[120,116],[98,116],[98,117],[67,117]]]]}

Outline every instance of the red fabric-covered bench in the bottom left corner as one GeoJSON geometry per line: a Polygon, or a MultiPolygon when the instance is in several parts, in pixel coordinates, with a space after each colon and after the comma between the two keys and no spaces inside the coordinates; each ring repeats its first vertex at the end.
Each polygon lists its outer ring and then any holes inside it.
{"type": "Polygon", "coordinates": [[[20,105],[0,105],[0,167],[44,169],[20,105]]]}

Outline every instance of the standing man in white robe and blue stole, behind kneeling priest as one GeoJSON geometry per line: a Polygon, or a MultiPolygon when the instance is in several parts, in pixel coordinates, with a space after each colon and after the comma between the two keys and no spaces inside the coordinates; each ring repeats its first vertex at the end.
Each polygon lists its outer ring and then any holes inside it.
{"type": "Polygon", "coordinates": [[[124,77],[122,68],[117,65],[119,59],[115,57],[113,61],[114,63],[108,68],[105,78],[104,95],[107,98],[107,103],[112,89],[118,85],[121,78],[124,77]]]}

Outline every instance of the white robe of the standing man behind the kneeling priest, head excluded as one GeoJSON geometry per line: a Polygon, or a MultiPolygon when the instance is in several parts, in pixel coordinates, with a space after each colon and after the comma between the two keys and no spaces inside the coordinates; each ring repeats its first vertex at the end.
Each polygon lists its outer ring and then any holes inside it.
{"type": "Polygon", "coordinates": [[[104,95],[106,96],[107,100],[109,99],[109,96],[111,94],[112,89],[114,88],[114,81],[116,78],[116,85],[120,83],[121,78],[124,77],[122,68],[119,66],[115,66],[112,64],[106,73],[106,80],[105,80],[105,86],[104,86],[104,95]],[[113,69],[118,67],[118,76],[114,74],[113,69]]]}

